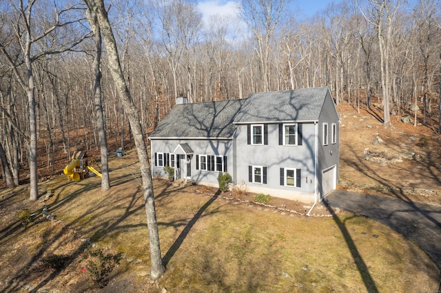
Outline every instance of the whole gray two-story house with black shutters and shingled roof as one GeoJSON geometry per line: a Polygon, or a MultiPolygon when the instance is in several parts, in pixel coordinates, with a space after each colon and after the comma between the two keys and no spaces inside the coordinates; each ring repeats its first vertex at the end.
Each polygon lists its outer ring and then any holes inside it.
{"type": "Polygon", "coordinates": [[[336,188],[340,118],[328,87],[176,106],[150,135],[152,172],[312,203],[336,188]]]}

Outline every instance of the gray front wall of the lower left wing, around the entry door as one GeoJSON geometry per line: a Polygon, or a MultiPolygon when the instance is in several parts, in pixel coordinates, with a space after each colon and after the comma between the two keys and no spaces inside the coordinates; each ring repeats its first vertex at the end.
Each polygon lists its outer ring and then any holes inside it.
{"type": "MultiPolygon", "coordinates": [[[[192,176],[191,180],[197,183],[204,183],[211,186],[218,186],[217,177],[220,172],[196,170],[196,155],[217,155],[227,157],[227,172],[234,177],[233,168],[233,142],[232,140],[156,140],[150,141],[152,151],[152,175],[167,177],[163,166],[155,166],[155,153],[173,153],[178,144],[187,143],[192,147],[194,154],[191,159],[192,176]]],[[[176,166],[176,164],[175,164],[176,166]]],[[[185,167],[181,164],[181,169],[185,167]]]]}

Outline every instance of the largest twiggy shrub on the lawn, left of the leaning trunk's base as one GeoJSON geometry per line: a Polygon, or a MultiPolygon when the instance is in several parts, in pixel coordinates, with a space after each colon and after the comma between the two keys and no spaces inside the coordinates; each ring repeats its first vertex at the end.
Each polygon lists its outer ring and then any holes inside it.
{"type": "Polygon", "coordinates": [[[92,281],[99,285],[100,288],[107,285],[106,277],[116,265],[119,265],[119,261],[122,258],[121,252],[117,254],[104,254],[103,250],[88,251],[88,254],[83,256],[85,259],[89,259],[85,268],[90,274],[92,281]]]}

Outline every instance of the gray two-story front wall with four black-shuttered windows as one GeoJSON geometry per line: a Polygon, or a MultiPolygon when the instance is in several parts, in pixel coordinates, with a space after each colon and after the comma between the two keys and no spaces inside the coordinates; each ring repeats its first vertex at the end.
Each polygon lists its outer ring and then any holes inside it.
{"type": "Polygon", "coordinates": [[[268,124],[268,144],[247,144],[247,125],[238,124],[236,131],[235,184],[246,184],[249,191],[271,196],[314,202],[315,142],[314,122],[302,123],[302,145],[279,145],[277,124],[268,124]],[[266,166],[267,184],[249,182],[248,166],[266,166]],[[301,169],[300,187],[281,186],[280,168],[301,169]]]}

